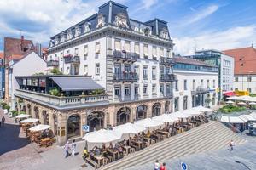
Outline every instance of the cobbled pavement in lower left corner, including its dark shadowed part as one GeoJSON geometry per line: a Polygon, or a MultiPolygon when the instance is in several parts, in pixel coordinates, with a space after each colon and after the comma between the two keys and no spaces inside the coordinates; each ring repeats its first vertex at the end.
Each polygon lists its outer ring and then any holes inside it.
{"type": "MultiPolygon", "coordinates": [[[[3,110],[0,109],[0,118],[3,110]]],[[[5,115],[4,127],[0,127],[0,170],[73,170],[81,169],[84,161],[81,151],[84,142],[78,142],[77,156],[64,158],[63,148],[51,146],[47,149],[31,144],[20,131],[13,118],[5,115]]],[[[92,169],[85,167],[83,169],[92,169]]]]}

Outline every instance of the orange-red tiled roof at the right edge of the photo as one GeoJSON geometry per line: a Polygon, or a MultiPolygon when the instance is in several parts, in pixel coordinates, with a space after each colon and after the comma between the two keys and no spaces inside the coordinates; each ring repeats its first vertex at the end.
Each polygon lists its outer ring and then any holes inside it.
{"type": "Polygon", "coordinates": [[[235,59],[235,75],[256,74],[256,49],[253,47],[224,50],[235,59]]]}

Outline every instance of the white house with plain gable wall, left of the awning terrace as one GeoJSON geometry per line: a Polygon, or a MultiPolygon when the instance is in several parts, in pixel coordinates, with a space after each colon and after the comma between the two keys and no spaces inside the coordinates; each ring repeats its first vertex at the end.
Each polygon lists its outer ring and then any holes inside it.
{"type": "MultiPolygon", "coordinates": [[[[20,60],[13,59],[9,61],[9,88],[6,88],[6,91],[8,91],[9,103],[11,104],[12,109],[15,109],[15,91],[17,88],[19,88],[19,84],[16,81],[15,77],[29,76],[32,74],[44,72],[46,69],[46,62],[35,52],[26,54],[20,60]]],[[[32,84],[32,86],[34,85],[35,84],[32,84]]]]}

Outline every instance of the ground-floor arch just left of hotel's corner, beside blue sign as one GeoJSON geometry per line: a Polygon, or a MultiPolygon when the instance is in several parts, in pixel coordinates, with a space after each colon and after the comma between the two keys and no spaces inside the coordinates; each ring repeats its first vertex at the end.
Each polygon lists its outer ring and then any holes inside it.
{"type": "Polygon", "coordinates": [[[104,127],[104,113],[102,111],[93,111],[87,116],[87,124],[90,131],[99,130],[104,127]]]}

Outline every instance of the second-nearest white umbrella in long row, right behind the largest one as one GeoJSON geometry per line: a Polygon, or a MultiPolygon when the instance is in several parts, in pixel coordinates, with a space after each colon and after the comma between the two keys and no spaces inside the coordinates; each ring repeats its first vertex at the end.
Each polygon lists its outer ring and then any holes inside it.
{"type": "Polygon", "coordinates": [[[145,127],[138,126],[136,124],[133,124],[131,122],[127,122],[123,125],[119,125],[117,127],[113,127],[113,131],[116,131],[118,133],[122,134],[135,134],[135,133],[141,133],[144,130],[146,130],[145,127]]]}

